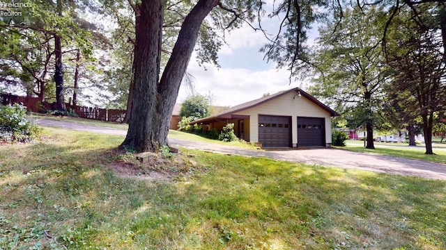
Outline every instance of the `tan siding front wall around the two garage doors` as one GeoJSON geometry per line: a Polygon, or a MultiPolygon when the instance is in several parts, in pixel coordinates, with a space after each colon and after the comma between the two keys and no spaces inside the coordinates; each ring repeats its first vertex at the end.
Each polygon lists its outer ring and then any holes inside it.
{"type": "Polygon", "coordinates": [[[249,115],[249,141],[259,142],[259,115],[284,115],[291,116],[293,146],[298,143],[297,117],[321,117],[325,118],[325,143],[331,143],[331,117],[323,108],[317,106],[305,97],[295,96],[296,92],[284,94],[282,97],[272,99],[254,108],[240,111],[236,115],[249,115]]]}

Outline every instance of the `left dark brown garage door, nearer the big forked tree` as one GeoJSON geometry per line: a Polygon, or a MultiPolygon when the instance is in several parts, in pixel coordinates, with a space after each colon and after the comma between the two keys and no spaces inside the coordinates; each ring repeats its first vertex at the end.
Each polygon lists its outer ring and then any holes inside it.
{"type": "Polygon", "coordinates": [[[259,142],[262,147],[290,147],[291,117],[259,115],[259,142]]]}

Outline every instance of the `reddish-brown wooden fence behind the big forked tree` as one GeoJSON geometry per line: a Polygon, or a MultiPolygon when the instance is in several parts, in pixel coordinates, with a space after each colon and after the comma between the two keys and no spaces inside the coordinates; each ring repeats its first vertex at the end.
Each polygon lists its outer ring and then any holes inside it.
{"type": "MultiPolygon", "coordinates": [[[[35,113],[41,113],[45,110],[56,110],[56,103],[41,102],[38,97],[19,97],[13,94],[0,94],[0,102],[3,105],[19,103],[26,106],[29,111],[35,113]]],[[[125,110],[72,106],[70,103],[66,103],[65,105],[67,110],[73,110],[76,115],[84,119],[123,122],[125,118],[125,110]]]]}

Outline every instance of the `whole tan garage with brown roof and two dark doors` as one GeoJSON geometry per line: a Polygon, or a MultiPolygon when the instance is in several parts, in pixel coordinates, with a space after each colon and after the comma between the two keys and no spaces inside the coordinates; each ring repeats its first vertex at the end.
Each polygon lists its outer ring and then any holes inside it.
{"type": "Polygon", "coordinates": [[[334,110],[300,88],[271,94],[234,106],[191,124],[221,130],[234,124],[238,138],[262,147],[330,147],[334,110]]]}

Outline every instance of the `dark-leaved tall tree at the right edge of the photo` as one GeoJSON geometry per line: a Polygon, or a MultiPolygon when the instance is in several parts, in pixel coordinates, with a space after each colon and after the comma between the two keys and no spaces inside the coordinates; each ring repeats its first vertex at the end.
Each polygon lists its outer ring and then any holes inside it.
{"type": "Polygon", "coordinates": [[[419,115],[423,123],[426,154],[433,154],[432,132],[436,113],[446,109],[446,62],[438,35],[436,6],[418,8],[417,15],[400,15],[392,29],[389,63],[395,70],[392,93],[403,103],[404,113],[419,115]],[[422,25],[420,25],[420,23],[422,25]]]}

